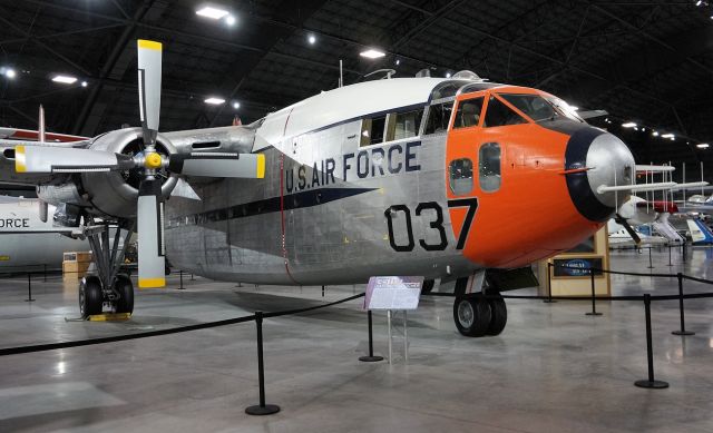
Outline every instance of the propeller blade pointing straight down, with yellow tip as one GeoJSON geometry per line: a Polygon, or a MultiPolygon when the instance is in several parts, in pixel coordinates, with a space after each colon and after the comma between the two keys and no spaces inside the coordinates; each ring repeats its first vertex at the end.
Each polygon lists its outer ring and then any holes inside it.
{"type": "Polygon", "coordinates": [[[138,287],[166,286],[164,200],[160,180],[146,179],[138,189],[138,287]]]}

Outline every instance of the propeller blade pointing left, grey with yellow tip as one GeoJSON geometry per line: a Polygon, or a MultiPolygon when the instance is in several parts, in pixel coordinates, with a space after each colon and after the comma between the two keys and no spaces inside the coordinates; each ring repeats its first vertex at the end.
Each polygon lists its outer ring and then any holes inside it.
{"type": "Polygon", "coordinates": [[[66,147],[16,146],[17,173],[89,173],[134,167],[131,157],[109,151],[66,147]]]}

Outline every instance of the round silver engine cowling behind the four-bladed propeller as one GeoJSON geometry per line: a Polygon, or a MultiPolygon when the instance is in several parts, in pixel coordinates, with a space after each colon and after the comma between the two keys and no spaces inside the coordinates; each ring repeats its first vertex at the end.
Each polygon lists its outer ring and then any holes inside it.
{"type": "MultiPolygon", "coordinates": [[[[144,150],[141,128],[125,128],[107,132],[94,139],[92,150],[105,150],[116,154],[135,156],[144,150]]],[[[176,152],[173,144],[158,134],[156,150],[162,156],[176,152]]],[[[115,218],[135,218],[138,187],[141,181],[143,168],[125,171],[82,173],[80,176],[80,191],[90,204],[89,211],[99,216],[115,218]]],[[[166,198],[178,181],[178,175],[168,174],[165,169],[157,170],[156,178],[162,180],[162,194],[166,198]]]]}

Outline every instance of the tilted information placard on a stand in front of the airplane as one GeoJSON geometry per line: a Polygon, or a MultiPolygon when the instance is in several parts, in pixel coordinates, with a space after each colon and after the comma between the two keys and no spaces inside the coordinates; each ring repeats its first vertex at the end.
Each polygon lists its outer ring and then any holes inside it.
{"type": "Polygon", "coordinates": [[[364,309],[416,309],[422,285],[423,277],[371,277],[364,296],[364,309]]]}

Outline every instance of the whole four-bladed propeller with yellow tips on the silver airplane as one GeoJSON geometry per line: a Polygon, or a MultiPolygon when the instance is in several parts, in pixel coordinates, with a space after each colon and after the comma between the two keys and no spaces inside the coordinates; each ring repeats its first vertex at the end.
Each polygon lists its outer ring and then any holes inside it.
{"type": "MultiPolygon", "coordinates": [[[[16,146],[16,171],[57,174],[97,173],[141,169],[138,188],[137,228],[138,286],[164,287],[164,197],[159,169],[185,176],[263,178],[265,156],[262,154],[192,152],[164,157],[156,151],[160,115],[162,50],[160,42],[139,39],[138,99],[144,151],[136,156],[85,148],[16,146]]],[[[195,193],[194,193],[195,195],[195,193]]],[[[196,196],[197,197],[197,196],[196,196]]]]}

